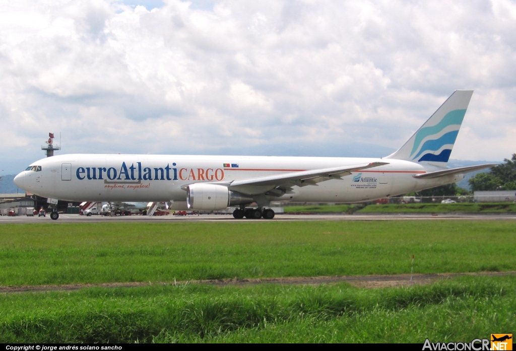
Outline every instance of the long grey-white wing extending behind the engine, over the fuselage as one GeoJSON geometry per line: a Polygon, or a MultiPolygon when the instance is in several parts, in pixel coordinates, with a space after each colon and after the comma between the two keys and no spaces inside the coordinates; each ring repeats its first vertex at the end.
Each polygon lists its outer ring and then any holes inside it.
{"type": "Polygon", "coordinates": [[[389,162],[361,163],[335,168],[290,172],[271,176],[234,180],[230,183],[229,188],[251,195],[263,194],[264,192],[275,188],[281,188],[284,192],[289,192],[288,188],[293,186],[305,187],[308,185],[317,185],[317,183],[321,181],[341,179],[341,177],[350,175],[351,172],[366,170],[368,168],[378,167],[384,164],[389,164],[389,162]]]}

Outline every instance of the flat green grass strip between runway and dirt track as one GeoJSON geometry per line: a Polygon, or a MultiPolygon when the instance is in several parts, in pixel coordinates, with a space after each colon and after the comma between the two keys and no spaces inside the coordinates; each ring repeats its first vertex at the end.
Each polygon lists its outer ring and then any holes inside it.
{"type": "Polygon", "coordinates": [[[0,285],[516,270],[512,221],[2,225],[0,285]]]}

